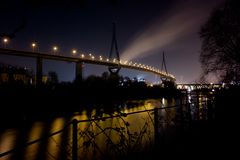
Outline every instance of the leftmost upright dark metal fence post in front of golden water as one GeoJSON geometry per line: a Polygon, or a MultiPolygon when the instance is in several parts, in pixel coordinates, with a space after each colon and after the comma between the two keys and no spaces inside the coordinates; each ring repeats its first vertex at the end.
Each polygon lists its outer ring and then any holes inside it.
{"type": "Polygon", "coordinates": [[[77,128],[78,121],[73,119],[72,121],[72,160],[77,160],[78,158],[78,128],[77,128]]]}

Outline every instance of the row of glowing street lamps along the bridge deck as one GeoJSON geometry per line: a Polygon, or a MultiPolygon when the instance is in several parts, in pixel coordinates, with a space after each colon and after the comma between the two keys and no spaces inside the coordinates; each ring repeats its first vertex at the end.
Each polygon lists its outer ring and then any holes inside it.
{"type": "MultiPolygon", "coordinates": [[[[3,38],[3,43],[4,43],[4,47],[5,47],[5,48],[6,48],[8,42],[9,42],[9,39],[8,39],[8,38],[3,38]]],[[[34,52],[34,51],[38,48],[38,45],[37,45],[36,42],[32,42],[32,43],[31,43],[31,47],[32,47],[32,51],[34,52]]],[[[57,52],[58,52],[58,50],[59,50],[59,49],[58,49],[58,46],[53,46],[53,47],[52,47],[52,50],[53,50],[53,53],[54,53],[54,54],[57,54],[57,52]]],[[[76,54],[77,54],[77,50],[76,50],[76,49],[72,49],[72,55],[75,56],[76,54]]],[[[80,54],[80,57],[81,57],[81,58],[86,58],[85,54],[80,54]]],[[[92,59],[92,60],[95,59],[95,56],[92,55],[91,53],[89,53],[89,57],[90,57],[90,59],[92,59]]],[[[103,61],[104,59],[103,59],[102,56],[99,56],[99,60],[100,60],[100,61],[103,61]]],[[[109,58],[106,58],[105,61],[110,62],[109,58]]],[[[118,63],[118,61],[117,61],[115,58],[112,60],[112,62],[113,62],[113,63],[118,63]]],[[[156,68],[154,68],[154,67],[151,67],[151,66],[148,66],[148,65],[144,65],[144,64],[141,64],[141,63],[132,62],[132,61],[124,61],[124,62],[122,62],[122,61],[120,60],[119,63],[122,64],[122,65],[128,65],[128,66],[139,67],[139,68],[151,70],[151,71],[153,71],[153,72],[158,72],[158,73],[161,72],[160,70],[158,70],[158,69],[156,69],[156,68]]],[[[168,75],[168,76],[174,78],[173,75],[170,75],[170,74],[167,74],[167,73],[164,73],[164,72],[163,72],[162,74],[165,74],[165,75],[168,75]]]]}

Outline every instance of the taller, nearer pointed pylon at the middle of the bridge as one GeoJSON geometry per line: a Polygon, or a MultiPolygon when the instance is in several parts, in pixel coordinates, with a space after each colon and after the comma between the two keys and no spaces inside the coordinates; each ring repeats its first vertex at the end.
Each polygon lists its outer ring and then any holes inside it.
{"type": "Polygon", "coordinates": [[[118,72],[121,69],[120,66],[120,56],[118,52],[118,45],[117,45],[117,38],[116,38],[116,24],[113,23],[113,34],[112,34],[112,42],[111,42],[111,49],[109,53],[109,59],[115,59],[113,65],[108,66],[108,70],[111,74],[118,74],[118,72]],[[115,56],[114,56],[114,50],[115,50],[115,56]]]}

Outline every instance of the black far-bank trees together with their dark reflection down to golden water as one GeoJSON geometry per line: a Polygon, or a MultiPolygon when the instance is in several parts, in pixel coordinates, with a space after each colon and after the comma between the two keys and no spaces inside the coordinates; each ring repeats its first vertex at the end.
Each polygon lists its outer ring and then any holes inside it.
{"type": "Polygon", "coordinates": [[[73,83],[58,83],[56,78],[50,80],[41,85],[21,81],[1,84],[2,111],[16,116],[23,112],[52,115],[92,109],[112,112],[128,100],[180,96],[175,84],[168,81],[150,86],[144,81],[108,74],[76,79],[73,83]]]}

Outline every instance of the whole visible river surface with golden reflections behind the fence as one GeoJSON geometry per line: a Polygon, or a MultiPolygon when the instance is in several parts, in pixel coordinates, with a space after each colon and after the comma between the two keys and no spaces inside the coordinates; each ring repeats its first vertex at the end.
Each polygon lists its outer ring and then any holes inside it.
{"type": "MultiPolygon", "coordinates": [[[[201,95],[198,99],[200,101],[197,101],[201,104],[197,111],[194,111],[194,105],[190,106],[191,111],[188,113],[192,119],[195,114],[201,115],[197,116],[200,119],[204,118],[203,99],[207,98],[201,95]]],[[[186,101],[188,100],[193,99],[188,97],[186,101]]],[[[179,112],[182,104],[180,99],[138,100],[123,103],[111,113],[106,113],[104,109],[82,110],[68,116],[36,120],[21,127],[2,129],[0,159],[71,159],[73,154],[77,154],[79,159],[124,158],[129,154],[151,149],[156,134],[161,135],[165,128],[177,126],[174,120],[187,116],[182,114],[186,108],[179,112]],[[154,110],[155,108],[158,110],[154,110]],[[158,123],[155,123],[156,117],[158,123]],[[77,153],[72,153],[73,119],[77,120],[77,153]],[[42,137],[45,138],[41,139],[42,137]],[[14,148],[17,150],[11,151],[14,148]]]]}

